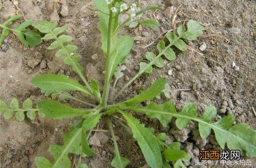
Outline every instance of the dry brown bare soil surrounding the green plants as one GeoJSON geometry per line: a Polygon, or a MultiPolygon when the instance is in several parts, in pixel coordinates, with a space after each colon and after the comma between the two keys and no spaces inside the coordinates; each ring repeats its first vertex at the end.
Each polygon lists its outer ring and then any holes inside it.
{"type": "MultiPolygon", "coordinates": [[[[201,114],[206,106],[214,105],[217,109],[224,105],[226,111],[218,113],[221,118],[227,114],[236,116],[236,123],[246,122],[256,129],[256,116],[252,108],[256,109],[256,1],[254,0],[141,0],[142,6],[160,6],[163,10],[155,12],[160,28],[130,29],[125,27],[122,34],[130,34],[135,43],[130,54],[130,62],[126,65],[125,77],[119,80],[117,88],[139,70],[139,62],[145,60],[146,51],[154,51],[156,43],[143,48],[157,39],[165,31],[173,29],[172,8],[180,7],[176,20],[193,19],[204,24],[207,31],[204,34],[217,34],[225,36],[202,37],[197,41],[188,43],[189,46],[204,54],[204,56],[187,50],[177,53],[177,59],[165,62],[164,68],[154,68],[151,75],[143,75],[123,93],[121,99],[135,94],[138,85],[148,87],[155,79],[166,77],[172,89],[171,99],[177,109],[182,109],[186,102],[193,102],[201,114]],[[169,7],[169,8],[168,8],[169,7]],[[167,11],[166,11],[167,10],[167,11]],[[163,14],[165,11],[165,15],[163,14]],[[227,40],[228,39],[228,40],[227,40]],[[200,51],[199,47],[206,44],[207,48],[200,51]],[[213,61],[212,61],[213,60],[213,61]],[[233,67],[233,62],[237,67],[233,67]],[[172,75],[168,71],[172,70],[172,75]]],[[[96,12],[86,8],[93,7],[90,0],[19,0],[18,7],[24,12],[26,18],[34,21],[57,21],[59,25],[67,25],[67,34],[73,36],[73,43],[79,47],[81,64],[89,80],[96,79],[103,85],[102,73],[105,61],[102,57],[100,34],[96,28],[98,19],[96,12]],[[67,8],[66,8],[67,7],[67,8]],[[67,10],[66,10],[67,9],[67,10]],[[95,55],[96,54],[96,55],[95,55]]],[[[17,11],[11,0],[1,0],[0,22],[7,20],[17,11]]],[[[20,11],[18,11],[20,13],[20,11]]],[[[143,18],[154,19],[153,11],[146,13],[143,18]]],[[[21,22],[21,21],[19,21],[21,22]]],[[[180,23],[183,23],[181,21],[180,23]]],[[[178,23],[178,24],[180,24],[178,23]]],[[[18,23],[15,23],[18,24],[18,23]]],[[[163,39],[163,36],[160,37],[163,39]]],[[[38,88],[30,80],[40,74],[55,73],[66,74],[71,78],[79,78],[72,69],[63,64],[63,59],[56,58],[56,51],[47,50],[49,42],[35,48],[25,48],[10,33],[0,49],[0,98],[10,102],[16,97],[20,102],[31,98],[35,103],[44,98],[38,88]]],[[[74,93],[75,94],[75,93],[74,93]]],[[[76,94],[82,97],[82,95],[76,94]]],[[[157,102],[167,101],[164,98],[157,102]]],[[[73,107],[84,107],[73,101],[68,101],[73,107]]],[[[93,102],[92,102],[93,103],[93,102]]],[[[86,106],[85,106],[86,107],[86,106]]],[[[211,135],[206,140],[198,137],[196,123],[188,128],[178,130],[174,124],[163,128],[157,120],[148,120],[144,115],[136,115],[146,126],[153,126],[156,132],[166,132],[169,142],[179,141],[182,148],[192,155],[186,166],[195,167],[200,149],[219,149],[215,138],[211,135]]],[[[73,120],[49,120],[38,118],[31,121],[26,118],[18,122],[15,118],[6,120],[0,116],[0,167],[3,168],[34,168],[34,158],[45,156],[53,159],[49,154],[50,144],[61,144],[62,135],[72,129],[77,123],[73,120]],[[72,124],[70,124],[70,121],[72,124]]],[[[102,119],[98,129],[105,128],[102,119]]],[[[115,131],[119,137],[121,154],[131,160],[128,167],[137,168],[147,165],[142,153],[132,136],[116,124],[115,131]]],[[[108,132],[95,132],[90,139],[95,157],[86,158],[91,168],[111,167],[113,158],[113,143],[108,132]]],[[[74,161],[76,156],[70,156],[74,161]]],[[[253,160],[256,166],[256,159],[253,160]]]]}

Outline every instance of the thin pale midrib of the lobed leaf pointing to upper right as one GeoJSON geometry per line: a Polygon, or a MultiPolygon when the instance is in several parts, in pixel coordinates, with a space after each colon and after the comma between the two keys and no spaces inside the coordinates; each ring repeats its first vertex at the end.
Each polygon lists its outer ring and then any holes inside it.
{"type": "Polygon", "coordinates": [[[160,53],[157,55],[157,57],[156,57],[155,59],[153,59],[151,62],[149,62],[148,65],[145,66],[145,68],[143,68],[142,70],[140,70],[133,78],[131,78],[131,80],[128,81],[128,82],[125,84],[125,86],[123,86],[122,89],[119,90],[119,92],[117,92],[117,94],[116,94],[115,98],[113,99],[113,101],[116,100],[116,98],[125,90],[126,87],[128,87],[128,86],[131,84],[131,82],[133,82],[136,78],[138,78],[141,74],[143,74],[144,71],[145,71],[148,67],[150,67],[152,64],[154,64],[154,62],[155,62],[160,56],[163,55],[163,53],[167,50],[167,48],[169,48],[169,47],[171,47],[172,45],[174,45],[174,43],[175,43],[178,39],[180,39],[180,38],[181,38],[181,37],[177,37],[176,39],[173,39],[173,41],[172,41],[164,50],[162,50],[162,52],[160,52],[160,53]]]}

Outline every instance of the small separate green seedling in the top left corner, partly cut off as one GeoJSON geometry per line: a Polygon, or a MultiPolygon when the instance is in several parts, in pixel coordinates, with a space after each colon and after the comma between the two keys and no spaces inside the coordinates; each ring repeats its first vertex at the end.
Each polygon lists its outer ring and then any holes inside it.
{"type": "MultiPolygon", "coordinates": [[[[0,7],[1,11],[2,7],[0,7]]],[[[4,39],[9,35],[9,31],[12,31],[20,42],[26,47],[35,47],[43,42],[38,31],[27,30],[27,28],[32,24],[32,20],[26,20],[16,28],[9,28],[9,25],[12,25],[13,21],[20,19],[23,15],[15,15],[10,17],[3,23],[0,23],[0,28],[2,28],[0,36],[0,46],[3,44],[4,39]]]]}

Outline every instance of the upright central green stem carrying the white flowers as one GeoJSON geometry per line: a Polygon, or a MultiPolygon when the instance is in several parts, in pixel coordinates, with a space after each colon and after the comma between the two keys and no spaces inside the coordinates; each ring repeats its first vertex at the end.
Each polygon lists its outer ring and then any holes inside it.
{"type": "Polygon", "coordinates": [[[108,47],[107,47],[107,60],[106,60],[106,73],[105,73],[105,83],[104,83],[104,90],[102,94],[102,106],[104,109],[107,109],[107,102],[108,102],[108,94],[109,94],[109,84],[110,84],[110,76],[111,76],[111,66],[110,66],[110,60],[111,60],[111,26],[112,26],[112,11],[110,10],[109,14],[109,20],[108,20],[108,47]]]}

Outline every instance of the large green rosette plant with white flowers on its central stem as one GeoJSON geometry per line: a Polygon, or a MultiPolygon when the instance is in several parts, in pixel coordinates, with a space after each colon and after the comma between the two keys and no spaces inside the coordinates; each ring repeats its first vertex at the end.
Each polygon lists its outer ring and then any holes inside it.
{"type": "Polygon", "coordinates": [[[189,20],[186,25],[187,28],[184,25],[180,25],[177,28],[177,34],[172,32],[166,34],[166,42],[160,40],[157,44],[158,52],[146,52],[145,58],[148,61],[140,62],[139,72],[124,84],[122,89],[116,94],[113,94],[115,84],[110,91],[111,80],[113,76],[116,77],[116,80],[122,77],[121,71],[125,69],[122,67],[122,64],[125,64],[124,60],[134,43],[131,36],[118,36],[120,29],[131,22],[131,20],[135,20],[143,12],[160,8],[148,6],[135,12],[134,10],[139,5],[138,3],[128,4],[122,0],[107,0],[107,3],[105,0],[94,0],[94,4],[98,10],[102,50],[106,59],[105,83],[102,94],[96,81],[89,82],[84,77],[82,67],[79,64],[80,56],[74,54],[77,47],[70,44],[72,37],[61,35],[66,31],[67,27],[63,26],[59,28],[57,27],[57,23],[47,21],[32,24],[41,33],[46,34],[42,39],[54,40],[48,49],[58,49],[56,56],[65,57],[64,63],[73,67],[73,71],[81,77],[84,85],[65,75],[53,74],[37,76],[32,79],[32,84],[41,88],[46,96],[53,94],[53,99],[57,95],[59,98],[72,98],[93,108],[74,109],[55,100],[42,100],[34,109],[32,108],[32,102],[28,99],[23,103],[23,109],[20,109],[18,101],[15,98],[12,100],[10,107],[5,102],[0,101],[0,113],[4,112],[5,118],[11,118],[14,111],[16,111],[15,116],[18,120],[24,119],[24,112],[26,112],[27,117],[31,120],[35,119],[35,111],[39,111],[41,116],[44,114],[48,118],[55,120],[81,116],[81,121],[76,128],[64,135],[63,145],[50,146],[49,151],[54,158],[53,162],[50,162],[45,157],[35,158],[38,168],[70,168],[73,164],[69,159],[69,154],[80,155],[79,162],[76,163],[78,168],[87,167],[85,163],[82,163],[81,158],[85,155],[89,157],[94,155],[94,151],[88,145],[87,140],[90,137],[92,129],[97,126],[97,123],[103,116],[107,120],[114,146],[115,157],[111,165],[115,168],[125,168],[130,161],[119,152],[112,123],[114,121],[113,114],[118,115],[118,118],[122,118],[118,123],[124,126],[128,130],[128,133],[132,132],[150,167],[168,168],[170,167],[170,162],[173,162],[175,168],[185,167],[183,162],[189,162],[191,156],[185,151],[180,150],[180,143],[173,142],[166,144],[165,133],[156,135],[153,128],[146,128],[140,123],[140,120],[129,114],[129,111],[143,113],[149,118],[157,118],[164,127],[169,125],[172,118],[176,118],[175,124],[178,129],[184,129],[193,120],[198,123],[202,138],[207,138],[211,134],[211,130],[213,130],[221,148],[225,148],[227,144],[230,150],[240,150],[242,154],[248,157],[256,156],[256,131],[250,129],[244,123],[233,126],[235,121],[233,115],[227,115],[217,122],[212,122],[216,117],[214,106],[208,106],[204,114],[198,117],[196,107],[192,103],[185,104],[180,112],[176,111],[172,101],[167,101],[164,104],[154,103],[152,100],[156,97],[159,98],[162,91],[166,97],[169,96],[169,86],[166,84],[166,78],[157,79],[151,87],[133,98],[128,98],[125,101],[115,101],[125,88],[139,76],[145,73],[152,73],[153,67],[163,67],[163,58],[169,61],[175,60],[176,55],[171,47],[175,46],[179,50],[185,51],[187,49],[185,41],[197,39],[205,30],[203,26],[194,20],[189,20]],[[122,14],[125,14],[127,19],[120,23],[119,16],[122,14]],[[84,100],[79,100],[67,93],[66,90],[82,92],[95,99],[98,103],[90,104],[84,100]],[[110,94],[111,92],[112,94],[110,94]],[[109,95],[114,95],[114,98],[110,100],[109,95]],[[151,100],[148,106],[141,104],[141,102],[148,100],[151,100]],[[126,120],[126,123],[123,123],[123,120],[126,120]]]}

